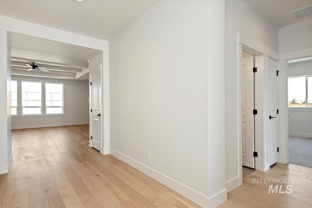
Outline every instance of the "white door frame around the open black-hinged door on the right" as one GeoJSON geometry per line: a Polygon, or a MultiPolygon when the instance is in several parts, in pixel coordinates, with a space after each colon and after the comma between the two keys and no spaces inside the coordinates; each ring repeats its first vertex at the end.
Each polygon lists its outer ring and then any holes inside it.
{"type": "MultiPolygon", "coordinates": [[[[270,167],[265,165],[265,161],[268,159],[268,151],[267,151],[267,122],[265,119],[266,111],[267,111],[267,71],[268,71],[268,60],[269,57],[279,60],[279,55],[268,47],[262,45],[261,43],[255,42],[250,37],[244,37],[240,33],[236,34],[236,44],[237,44],[237,54],[236,54],[236,72],[237,72],[237,83],[238,83],[238,115],[237,115],[237,132],[238,132],[238,177],[239,177],[239,185],[242,185],[243,176],[242,176],[242,86],[241,86],[241,54],[242,50],[252,53],[252,55],[257,55],[256,57],[256,67],[258,70],[257,80],[256,80],[256,89],[255,89],[255,106],[258,111],[258,116],[255,116],[255,151],[258,152],[258,157],[255,157],[255,169],[260,171],[269,170],[270,167]],[[262,70],[261,70],[262,69],[262,70]],[[260,124],[260,125],[258,125],[260,124]]],[[[279,100],[278,100],[279,103],[279,100]]],[[[279,130],[279,129],[278,129],[279,130]]],[[[277,130],[277,131],[278,131],[277,130]]],[[[278,135],[280,135],[278,133],[278,135]]],[[[279,138],[277,138],[279,141],[279,138]]]]}

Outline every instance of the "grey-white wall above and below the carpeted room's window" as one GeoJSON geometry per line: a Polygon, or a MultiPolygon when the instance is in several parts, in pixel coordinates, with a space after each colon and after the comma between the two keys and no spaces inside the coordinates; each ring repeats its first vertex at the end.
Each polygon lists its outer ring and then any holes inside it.
{"type": "MultiPolygon", "coordinates": [[[[312,75],[312,61],[288,64],[288,76],[312,75]]],[[[312,109],[288,110],[288,131],[291,136],[312,137],[312,109]]]]}

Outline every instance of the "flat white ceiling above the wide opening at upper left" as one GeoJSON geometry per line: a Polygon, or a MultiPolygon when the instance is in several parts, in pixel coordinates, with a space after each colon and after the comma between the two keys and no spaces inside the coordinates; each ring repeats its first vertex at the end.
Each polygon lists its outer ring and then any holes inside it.
{"type": "Polygon", "coordinates": [[[0,15],[108,40],[156,0],[0,0],[0,15]]]}

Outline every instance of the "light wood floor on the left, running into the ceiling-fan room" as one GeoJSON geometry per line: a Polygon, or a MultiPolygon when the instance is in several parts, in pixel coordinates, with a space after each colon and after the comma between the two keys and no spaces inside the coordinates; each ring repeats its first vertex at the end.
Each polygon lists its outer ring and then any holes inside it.
{"type": "Polygon", "coordinates": [[[1,208],[198,207],[111,155],[89,148],[88,126],[12,131],[1,208]]]}

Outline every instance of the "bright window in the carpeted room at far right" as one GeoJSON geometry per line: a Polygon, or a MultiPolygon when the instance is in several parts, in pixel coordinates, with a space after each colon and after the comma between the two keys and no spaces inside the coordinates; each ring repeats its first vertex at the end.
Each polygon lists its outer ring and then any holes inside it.
{"type": "Polygon", "coordinates": [[[288,107],[312,107],[312,76],[288,78],[288,107]]]}

